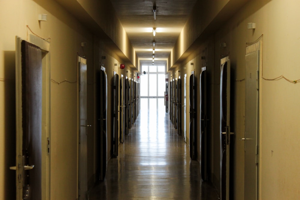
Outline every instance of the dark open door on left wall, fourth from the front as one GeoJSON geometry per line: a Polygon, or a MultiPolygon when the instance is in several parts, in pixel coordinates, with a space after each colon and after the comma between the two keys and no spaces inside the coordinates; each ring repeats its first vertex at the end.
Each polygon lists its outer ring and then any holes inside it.
{"type": "Polygon", "coordinates": [[[113,155],[118,156],[119,145],[119,75],[115,74],[113,77],[113,155]]]}

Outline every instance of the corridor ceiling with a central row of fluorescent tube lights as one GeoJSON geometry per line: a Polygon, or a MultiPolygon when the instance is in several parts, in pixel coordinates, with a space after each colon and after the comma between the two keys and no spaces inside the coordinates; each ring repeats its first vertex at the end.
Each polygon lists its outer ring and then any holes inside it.
{"type": "Polygon", "coordinates": [[[154,65],[165,66],[196,0],[111,0],[111,2],[141,64],[152,66],[155,48],[154,65]],[[154,6],[156,20],[153,15],[154,6]],[[153,28],[156,28],[155,36],[153,28]]]}

